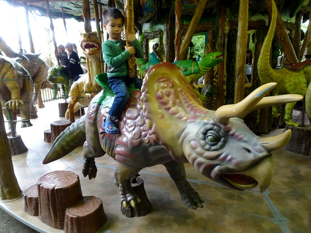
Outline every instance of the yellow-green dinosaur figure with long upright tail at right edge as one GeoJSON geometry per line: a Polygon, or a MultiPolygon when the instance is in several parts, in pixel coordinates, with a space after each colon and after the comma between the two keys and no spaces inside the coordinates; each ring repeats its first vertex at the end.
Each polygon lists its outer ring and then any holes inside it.
{"type": "MultiPolygon", "coordinates": [[[[274,1],[272,1],[272,20],[271,25],[268,30],[267,37],[262,45],[261,53],[258,58],[258,75],[262,84],[276,82],[277,85],[274,88],[274,92],[276,95],[282,94],[299,94],[304,96],[306,100],[306,112],[308,116],[311,116],[310,109],[310,79],[311,79],[311,66],[300,67],[300,69],[295,68],[286,68],[284,66],[283,69],[274,70],[271,68],[269,64],[270,59],[270,48],[273,40],[273,34],[276,25],[276,5],[274,1]]],[[[305,62],[300,62],[295,66],[299,66],[299,64],[304,64],[305,62]]],[[[294,107],[296,102],[287,103],[285,107],[285,122],[291,126],[299,126],[298,123],[294,123],[291,121],[291,110],[294,107]]],[[[276,107],[272,107],[272,113],[274,117],[280,116],[277,113],[276,107]]]]}

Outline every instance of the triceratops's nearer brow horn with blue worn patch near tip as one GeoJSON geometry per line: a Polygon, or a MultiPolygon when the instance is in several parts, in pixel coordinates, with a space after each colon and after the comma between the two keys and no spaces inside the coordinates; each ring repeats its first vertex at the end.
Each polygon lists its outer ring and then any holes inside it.
{"type": "Polygon", "coordinates": [[[215,121],[222,125],[229,124],[231,117],[239,117],[245,112],[249,112],[275,86],[276,83],[267,83],[258,87],[241,102],[221,106],[215,112],[215,121]]]}

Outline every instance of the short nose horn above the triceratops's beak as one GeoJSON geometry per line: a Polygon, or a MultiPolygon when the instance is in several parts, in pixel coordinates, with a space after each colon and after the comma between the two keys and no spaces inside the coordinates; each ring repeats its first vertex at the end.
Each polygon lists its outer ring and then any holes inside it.
{"type": "Polygon", "coordinates": [[[281,149],[285,146],[290,140],[291,130],[286,130],[284,133],[268,137],[268,138],[260,138],[259,143],[265,148],[267,151],[274,151],[281,149]]]}

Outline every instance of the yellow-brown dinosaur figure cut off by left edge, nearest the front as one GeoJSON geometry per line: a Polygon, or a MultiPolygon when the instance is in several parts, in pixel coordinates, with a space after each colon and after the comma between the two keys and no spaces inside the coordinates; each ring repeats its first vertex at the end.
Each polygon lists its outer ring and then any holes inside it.
{"type": "MultiPolygon", "coordinates": [[[[26,71],[15,60],[0,56],[0,100],[1,106],[8,106],[11,110],[11,117],[16,121],[17,114],[21,114],[21,127],[32,126],[30,123],[30,106],[33,105],[34,83],[26,71]],[[20,108],[20,107],[26,107],[20,108]]],[[[4,116],[8,118],[7,111],[3,111],[4,116]]],[[[16,122],[13,122],[16,131],[16,122]]]]}

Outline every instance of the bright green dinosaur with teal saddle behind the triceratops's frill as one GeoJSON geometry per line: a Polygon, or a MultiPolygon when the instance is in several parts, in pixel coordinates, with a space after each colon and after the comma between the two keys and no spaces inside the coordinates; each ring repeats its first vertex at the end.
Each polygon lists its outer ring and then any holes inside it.
{"type": "MultiPolygon", "coordinates": [[[[161,61],[153,54],[149,54],[149,61],[145,62],[142,58],[136,59],[137,66],[141,75],[145,76],[146,72],[155,64],[161,61]]],[[[201,59],[197,62],[191,60],[180,60],[173,62],[186,76],[188,82],[193,88],[195,94],[202,103],[207,97],[202,95],[193,85],[194,81],[199,80],[202,75],[206,74],[212,67],[216,66],[218,63],[222,62],[222,53],[209,53],[202,55],[201,59]]]]}

